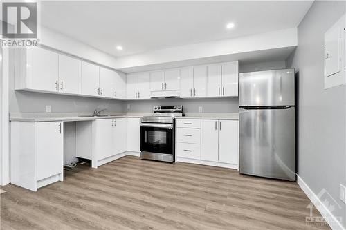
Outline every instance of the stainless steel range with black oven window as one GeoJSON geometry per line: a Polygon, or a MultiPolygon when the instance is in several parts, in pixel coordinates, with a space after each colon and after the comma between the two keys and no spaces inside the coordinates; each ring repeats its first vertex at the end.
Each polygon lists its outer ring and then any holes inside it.
{"type": "Polygon", "coordinates": [[[183,115],[183,106],[154,106],[154,115],[140,119],[140,158],[174,162],[174,117],[183,115]]]}

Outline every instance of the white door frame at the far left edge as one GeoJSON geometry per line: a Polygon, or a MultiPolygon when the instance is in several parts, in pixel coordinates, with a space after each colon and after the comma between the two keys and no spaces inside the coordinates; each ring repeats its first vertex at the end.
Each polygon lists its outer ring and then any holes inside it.
{"type": "Polygon", "coordinates": [[[10,182],[9,50],[0,49],[0,179],[6,185],[10,182]]]}

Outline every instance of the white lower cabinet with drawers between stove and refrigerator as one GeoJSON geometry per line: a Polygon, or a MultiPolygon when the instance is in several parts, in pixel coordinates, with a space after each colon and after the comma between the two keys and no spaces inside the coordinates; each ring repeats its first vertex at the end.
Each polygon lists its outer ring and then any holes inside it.
{"type": "Polygon", "coordinates": [[[238,169],[237,120],[176,119],[176,125],[178,162],[238,169]],[[200,128],[182,128],[192,124],[200,128]]]}

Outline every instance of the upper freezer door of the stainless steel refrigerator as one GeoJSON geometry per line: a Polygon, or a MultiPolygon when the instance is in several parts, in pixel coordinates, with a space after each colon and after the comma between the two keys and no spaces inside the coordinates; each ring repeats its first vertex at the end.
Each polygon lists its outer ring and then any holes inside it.
{"type": "Polygon", "coordinates": [[[239,74],[239,106],[294,106],[294,69],[239,74]]]}

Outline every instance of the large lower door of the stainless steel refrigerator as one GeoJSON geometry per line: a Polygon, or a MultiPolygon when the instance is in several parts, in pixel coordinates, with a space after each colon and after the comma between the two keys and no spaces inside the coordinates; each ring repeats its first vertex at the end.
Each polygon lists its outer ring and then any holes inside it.
{"type": "Polygon", "coordinates": [[[295,108],[239,109],[239,171],[295,180],[295,108]]]}

